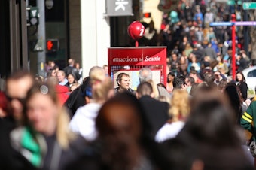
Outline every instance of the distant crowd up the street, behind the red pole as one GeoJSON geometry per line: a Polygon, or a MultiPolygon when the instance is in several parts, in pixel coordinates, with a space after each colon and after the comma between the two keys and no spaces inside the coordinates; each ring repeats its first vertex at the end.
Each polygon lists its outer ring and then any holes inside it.
{"type": "MultiPolygon", "coordinates": [[[[153,20],[144,23],[145,37],[139,44],[166,46],[168,69],[175,75],[197,71],[204,79],[203,68],[211,68],[212,72],[220,71],[222,77],[231,76],[232,53],[236,56],[236,71],[242,71],[254,64],[250,60],[251,48],[244,47],[242,27],[236,26],[236,42],[232,42],[230,26],[210,26],[209,23],[230,21],[234,8],[235,5],[216,0],[180,0],[176,10],[163,14],[160,33],[154,29],[153,20]]],[[[241,20],[239,11],[236,13],[236,20],[241,20]]]]}

